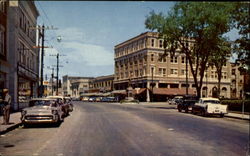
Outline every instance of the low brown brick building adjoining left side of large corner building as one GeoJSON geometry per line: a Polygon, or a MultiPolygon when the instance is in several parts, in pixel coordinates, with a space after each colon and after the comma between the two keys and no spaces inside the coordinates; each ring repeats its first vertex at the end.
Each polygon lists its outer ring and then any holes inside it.
{"type": "Polygon", "coordinates": [[[114,75],[99,76],[92,81],[93,92],[111,92],[113,91],[114,75]]]}

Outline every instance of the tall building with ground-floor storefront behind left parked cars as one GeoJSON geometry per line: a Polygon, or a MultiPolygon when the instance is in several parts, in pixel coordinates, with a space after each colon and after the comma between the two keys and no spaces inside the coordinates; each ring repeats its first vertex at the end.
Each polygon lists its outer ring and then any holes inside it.
{"type": "Polygon", "coordinates": [[[37,96],[39,51],[36,29],[39,12],[34,1],[9,1],[7,31],[8,31],[8,60],[9,90],[12,96],[14,110],[26,105],[19,98],[37,96]]]}

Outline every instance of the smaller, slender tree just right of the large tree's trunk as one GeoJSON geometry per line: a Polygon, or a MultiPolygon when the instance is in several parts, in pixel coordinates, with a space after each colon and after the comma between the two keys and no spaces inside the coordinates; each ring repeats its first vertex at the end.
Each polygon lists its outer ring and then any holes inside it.
{"type": "Polygon", "coordinates": [[[218,90],[217,90],[217,97],[220,97],[220,85],[221,85],[221,78],[222,78],[222,68],[226,65],[229,57],[231,54],[231,44],[229,43],[228,39],[221,38],[218,40],[218,46],[215,49],[215,52],[209,59],[209,65],[216,67],[216,72],[218,75],[218,90]]]}

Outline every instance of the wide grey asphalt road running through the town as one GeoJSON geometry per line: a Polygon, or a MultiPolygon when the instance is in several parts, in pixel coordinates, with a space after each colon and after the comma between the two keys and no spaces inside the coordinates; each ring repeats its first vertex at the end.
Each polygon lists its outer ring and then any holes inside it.
{"type": "Polygon", "coordinates": [[[0,136],[0,155],[248,156],[248,121],[179,113],[169,106],[76,102],[59,127],[0,136]]]}

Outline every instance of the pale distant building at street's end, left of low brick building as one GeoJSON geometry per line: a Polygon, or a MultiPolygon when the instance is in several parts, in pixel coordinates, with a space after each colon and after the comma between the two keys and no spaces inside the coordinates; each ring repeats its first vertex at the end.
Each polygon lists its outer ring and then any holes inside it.
{"type": "Polygon", "coordinates": [[[82,93],[87,93],[92,88],[93,77],[63,76],[63,95],[79,97],[82,93]]]}

